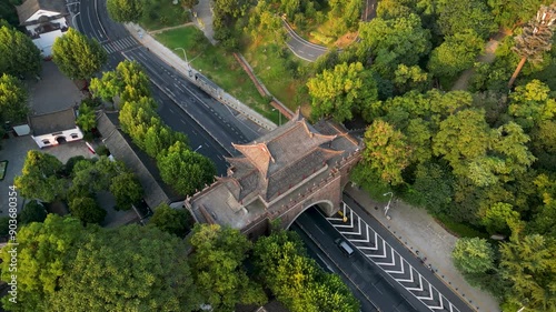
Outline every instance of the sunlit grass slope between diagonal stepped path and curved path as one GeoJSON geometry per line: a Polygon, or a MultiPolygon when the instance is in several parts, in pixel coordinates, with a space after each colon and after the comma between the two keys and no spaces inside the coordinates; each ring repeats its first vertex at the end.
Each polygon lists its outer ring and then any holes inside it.
{"type": "Polygon", "coordinates": [[[281,49],[282,47],[267,39],[249,42],[242,54],[272,95],[292,111],[301,105],[302,113],[309,117],[309,94],[307,89],[299,88],[307,81],[305,78],[295,78],[292,72],[298,67],[309,67],[310,63],[296,58],[287,48],[280,57],[281,49]]]}

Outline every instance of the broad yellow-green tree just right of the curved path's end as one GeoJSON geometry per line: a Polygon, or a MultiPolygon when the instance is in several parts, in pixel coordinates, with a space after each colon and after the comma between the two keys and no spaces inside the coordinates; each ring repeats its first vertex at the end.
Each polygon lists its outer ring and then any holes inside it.
{"type": "Polygon", "coordinates": [[[417,14],[396,19],[375,18],[360,23],[359,57],[370,53],[373,69],[380,76],[393,78],[399,64],[415,66],[430,51],[430,32],[421,27],[417,14]]]}

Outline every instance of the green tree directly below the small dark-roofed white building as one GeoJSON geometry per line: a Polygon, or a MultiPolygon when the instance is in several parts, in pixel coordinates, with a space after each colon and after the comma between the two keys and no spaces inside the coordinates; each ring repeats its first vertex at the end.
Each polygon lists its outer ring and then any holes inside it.
{"type": "Polygon", "coordinates": [[[31,150],[27,153],[22,174],[16,177],[13,184],[24,198],[52,202],[64,195],[62,169],[63,164],[56,157],[31,150]]]}

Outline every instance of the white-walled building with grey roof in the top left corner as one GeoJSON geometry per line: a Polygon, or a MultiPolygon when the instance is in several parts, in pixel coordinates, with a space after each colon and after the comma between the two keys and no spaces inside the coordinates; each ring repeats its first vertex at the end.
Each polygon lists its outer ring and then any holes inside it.
{"type": "Polygon", "coordinates": [[[68,30],[69,16],[64,0],[26,0],[16,7],[20,26],[27,29],[42,57],[52,54],[56,38],[68,30]]]}

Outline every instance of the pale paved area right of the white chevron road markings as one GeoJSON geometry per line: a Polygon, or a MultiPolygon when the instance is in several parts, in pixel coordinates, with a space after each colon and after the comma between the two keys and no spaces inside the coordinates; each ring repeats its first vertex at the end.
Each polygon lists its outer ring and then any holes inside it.
{"type": "MultiPolygon", "coordinates": [[[[395,201],[384,215],[384,203],[379,203],[361,190],[347,185],[345,192],[388,229],[416,256],[426,258],[426,264],[437,270],[437,275],[469,302],[477,311],[500,311],[497,301],[488,293],[473,288],[454,266],[451,250],[457,238],[441,228],[425,209],[395,201]]],[[[386,199],[385,199],[386,200],[386,199]]]]}

